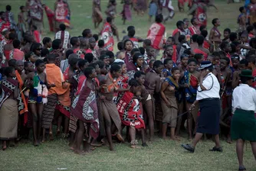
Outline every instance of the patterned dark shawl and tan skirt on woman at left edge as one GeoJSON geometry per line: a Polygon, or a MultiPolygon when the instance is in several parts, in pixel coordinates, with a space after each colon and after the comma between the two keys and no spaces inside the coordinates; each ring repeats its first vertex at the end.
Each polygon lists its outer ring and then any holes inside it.
{"type": "Polygon", "coordinates": [[[10,140],[17,137],[17,101],[9,98],[16,86],[18,86],[18,82],[15,79],[2,80],[2,94],[0,95],[0,140],[10,140]]]}

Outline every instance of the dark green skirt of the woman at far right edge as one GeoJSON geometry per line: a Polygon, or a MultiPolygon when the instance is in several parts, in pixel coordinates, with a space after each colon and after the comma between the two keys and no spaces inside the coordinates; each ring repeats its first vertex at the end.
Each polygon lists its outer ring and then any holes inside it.
{"type": "Polygon", "coordinates": [[[232,140],[256,141],[256,118],[254,111],[236,109],[231,120],[232,140]]]}

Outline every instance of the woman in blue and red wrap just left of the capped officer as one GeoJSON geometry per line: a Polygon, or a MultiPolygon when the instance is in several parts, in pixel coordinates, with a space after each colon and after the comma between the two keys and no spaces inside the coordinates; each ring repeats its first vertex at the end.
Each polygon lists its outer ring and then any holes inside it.
{"type": "MultiPolygon", "coordinates": [[[[197,87],[199,85],[199,78],[200,73],[196,70],[196,63],[197,61],[195,59],[189,59],[188,62],[188,69],[185,71],[185,108],[187,111],[189,111],[189,108],[191,108],[191,105],[193,102],[195,102],[196,98],[196,92],[197,87]]],[[[192,111],[189,111],[188,115],[188,133],[189,133],[189,139],[192,140],[192,123],[193,120],[196,123],[197,121],[197,115],[198,115],[198,106],[194,108],[192,111]],[[193,119],[193,120],[192,120],[193,119]]]]}

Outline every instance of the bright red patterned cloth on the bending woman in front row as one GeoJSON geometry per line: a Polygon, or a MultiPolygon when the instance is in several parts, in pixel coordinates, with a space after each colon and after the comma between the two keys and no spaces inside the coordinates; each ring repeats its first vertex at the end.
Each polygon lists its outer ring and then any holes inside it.
{"type": "Polygon", "coordinates": [[[122,124],[135,127],[136,129],[145,128],[139,100],[134,98],[132,92],[124,93],[117,104],[117,111],[119,112],[122,124]]]}

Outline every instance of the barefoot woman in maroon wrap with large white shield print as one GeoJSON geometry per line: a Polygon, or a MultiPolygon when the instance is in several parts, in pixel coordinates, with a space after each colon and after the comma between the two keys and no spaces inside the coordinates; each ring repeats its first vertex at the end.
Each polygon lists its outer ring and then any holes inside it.
{"type": "Polygon", "coordinates": [[[80,150],[80,145],[84,139],[84,132],[86,132],[86,142],[87,147],[85,149],[89,150],[89,144],[91,138],[96,139],[99,134],[99,122],[98,120],[98,111],[97,111],[97,102],[96,102],[96,82],[94,78],[97,77],[95,69],[91,66],[88,66],[84,69],[84,76],[86,76],[86,81],[84,82],[84,87],[81,89],[80,94],[77,95],[77,98],[74,99],[74,102],[71,106],[72,114],[78,118],[78,130],[76,134],[76,148],[74,153],[84,154],[80,150]],[[88,104],[85,105],[85,104],[88,104]],[[86,124],[86,128],[85,125],[86,124]]]}

